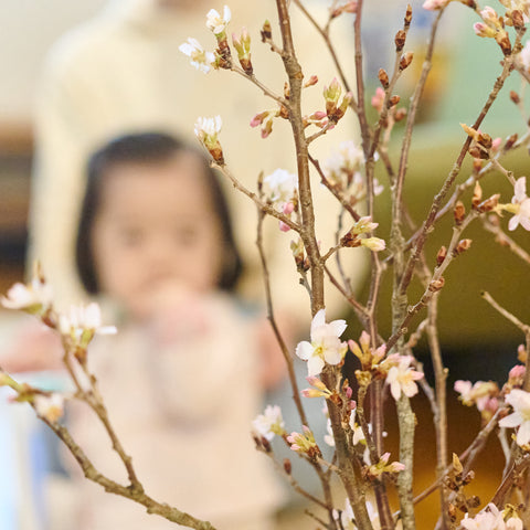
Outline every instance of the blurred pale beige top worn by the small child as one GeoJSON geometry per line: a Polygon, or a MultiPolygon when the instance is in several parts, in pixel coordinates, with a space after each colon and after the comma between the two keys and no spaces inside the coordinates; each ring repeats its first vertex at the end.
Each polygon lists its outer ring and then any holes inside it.
{"type": "MultiPolygon", "coordinates": [[[[263,406],[253,325],[224,295],[213,297],[209,310],[214,319],[201,333],[184,335],[162,351],[144,330],[130,327],[102,337],[89,363],[147,495],[232,530],[271,516],[280,490],[251,436],[252,420],[263,406]]],[[[127,485],[93,415],[76,407],[71,422],[96,467],[127,485]]],[[[77,529],[174,528],[84,478],[77,487],[85,524],[77,529]]]]}

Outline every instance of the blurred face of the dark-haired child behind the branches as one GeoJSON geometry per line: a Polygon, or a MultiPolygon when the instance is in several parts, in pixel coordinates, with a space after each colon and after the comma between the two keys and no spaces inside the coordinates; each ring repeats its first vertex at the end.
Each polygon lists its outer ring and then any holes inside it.
{"type": "Polygon", "coordinates": [[[215,288],[222,240],[195,156],[107,171],[92,232],[99,288],[136,316],[176,284],[215,288]]]}

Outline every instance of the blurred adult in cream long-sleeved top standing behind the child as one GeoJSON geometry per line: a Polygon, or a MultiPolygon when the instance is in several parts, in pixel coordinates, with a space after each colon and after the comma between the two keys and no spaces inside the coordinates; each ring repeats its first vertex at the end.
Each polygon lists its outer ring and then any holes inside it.
{"type": "MultiPolygon", "coordinates": [[[[220,2],[214,3],[205,0],[113,0],[93,20],[64,35],[50,52],[36,96],[29,259],[42,262],[60,306],[82,297],[73,259],[75,225],[84,189],[82,168],[87,153],[106,139],[146,128],[190,137],[198,116],[221,115],[221,142],[227,165],[245,186],[255,189],[261,171],[268,174],[278,167],[296,171],[294,144],[286,120],[277,120],[273,134],[265,140],[258,130],[250,128],[255,114],[275,109],[276,103],[232,72],[213,71],[204,75],[179,52],[179,45],[189,36],[213,51],[215,40],[205,28],[205,14],[211,8],[223,11],[220,2]]],[[[326,13],[327,6],[312,3],[312,8],[326,13]]],[[[247,28],[253,38],[255,74],[280,94],[286,81],[282,60],[268,45],[262,44],[258,36],[263,22],[268,19],[273,23],[273,38],[280,43],[274,23],[277,20],[275,2],[234,0],[230,8],[229,33],[239,34],[243,26],[247,28]]],[[[305,76],[318,74],[320,80],[316,87],[306,91],[311,103],[306,105],[305,112],[310,114],[324,109],[322,87],[336,74],[310,23],[295,6],[292,12],[305,76]]],[[[348,57],[352,47],[352,17],[341,19],[335,23],[340,34],[335,42],[340,44],[339,55],[348,57]]],[[[349,65],[351,63],[348,61],[349,65]]],[[[332,144],[354,136],[353,115],[347,115],[336,130],[315,142],[315,152],[325,158],[332,144]]],[[[319,206],[326,209],[326,214],[317,215],[324,226],[318,237],[325,248],[325,244],[333,244],[338,208],[327,197],[329,193],[320,189],[318,180],[314,189],[317,195],[326,195],[324,205],[319,206]]],[[[236,239],[248,265],[243,292],[255,297],[263,292],[259,276],[255,274],[259,269],[254,248],[255,205],[236,192],[230,193],[230,201],[235,209],[236,239]]],[[[267,224],[268,231],[277,231],[275,220],[267,224]]],[[[275,234],[273,289],[284,295],[284,299],[278,300],[282,305],[296,307],[298,316],[301,316],[299,308],[306,307],[309,317],[307,293],[297,286],[289,250],[293,237],[293,233],[275,234]],[[289,290],[288,285],[293,286],[289,290]]],[[[359,256],[362,264],[367,257],[364,252],[354,250],[350,254],[359,256]]]]}

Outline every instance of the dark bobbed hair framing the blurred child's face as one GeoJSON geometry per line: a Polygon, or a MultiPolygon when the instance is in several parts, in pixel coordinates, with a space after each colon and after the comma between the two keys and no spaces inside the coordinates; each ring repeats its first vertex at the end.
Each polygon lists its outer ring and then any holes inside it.
{"type": "Polygon", "coordinates": [[[229,206],[219,182],[219,176],[200,151],[181,140],[165,132],[140,132],[113,139],[95,151],[88,160],[85,197],[75,243],[77,273],[87,293],[94,295],[99,293],[92,250],[92,230],[100,204],[106,174],[115,166],[156,165],[169,160],[179,152],[193,152],[202,162],[204,178],[211,193],[212,208],[219,219],[223,241],[223,259],[218,287],[225,290],[235,288],[242,273],[242,262],[235,246],[229,206]]]}

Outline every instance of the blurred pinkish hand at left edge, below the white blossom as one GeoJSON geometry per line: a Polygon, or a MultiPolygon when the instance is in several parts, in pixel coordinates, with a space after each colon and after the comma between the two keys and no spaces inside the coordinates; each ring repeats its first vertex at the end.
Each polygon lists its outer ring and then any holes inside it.
{"type": "Polygon", "coordinates": [[[60,337],[40,322],[23,325],[8,348],[2,351],[0,365],[10,373],[59,370],[62,368],[60,337]]]}

